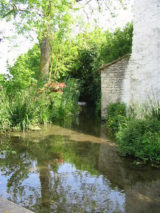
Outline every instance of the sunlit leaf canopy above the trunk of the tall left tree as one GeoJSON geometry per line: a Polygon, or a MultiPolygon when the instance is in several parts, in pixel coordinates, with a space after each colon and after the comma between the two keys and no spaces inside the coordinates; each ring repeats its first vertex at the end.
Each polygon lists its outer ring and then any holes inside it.
{"type": "Polygon", "coordinates": [[[74,0],[1,0],[0,17],[14,19],[19,32],[36,31],[39,40],[71,22],[74,0]],[[17,18],[18,17],[18,18],[17,18]]]}

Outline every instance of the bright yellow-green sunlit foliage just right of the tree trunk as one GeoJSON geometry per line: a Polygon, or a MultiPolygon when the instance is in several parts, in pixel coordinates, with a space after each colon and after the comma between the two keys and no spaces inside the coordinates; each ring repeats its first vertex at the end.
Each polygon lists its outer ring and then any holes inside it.
{"type": "MultiPolygon", "coordinates": [[[[66,76],[79,79],[81,74],[77,75],[78,70],[83,66],[84,71],[86,66],[85,62],[83,64],[84,58],[82,56],[85,53],[90,57],[90,65],[88,65],[88,67],[94,67],[95,60],[99,60],[98,54],[101,43],[105,39],[105,34],[100,29],[95,29],[90,33],[79,33],[75,37],[68,36],[65,37],[65,39],[59,39],[58,33],[54,33],[53,36],[50,68],[52,78],[56,80],[62,80],[66,76]]],[[[87,70],[88,67],[86,67],[87,70]]]]}

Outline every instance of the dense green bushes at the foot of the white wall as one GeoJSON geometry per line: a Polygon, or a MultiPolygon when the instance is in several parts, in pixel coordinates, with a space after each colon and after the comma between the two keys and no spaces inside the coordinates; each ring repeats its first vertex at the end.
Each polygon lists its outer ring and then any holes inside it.
{"type": "Polygon", "coordinates": [[[144,113],[142,108],[140,117],[133,111],[126,115],[125,104],[110,104],[107,127],[114,132],[122,156],[160,163],[160,106],[149,109],[144,113]]]}

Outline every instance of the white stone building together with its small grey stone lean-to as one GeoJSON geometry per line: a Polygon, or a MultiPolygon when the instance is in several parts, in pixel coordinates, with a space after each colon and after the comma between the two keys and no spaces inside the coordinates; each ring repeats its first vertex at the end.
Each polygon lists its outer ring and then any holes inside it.
{"type": "Polygon", "coordinates": [[[123,61],[118,60],[102,69],[102,118],[111,102],[128,106],[160,103],[160,0],[134,0],[133,26],[129,64],[121,66],[123,61]],[[115,85],[119,86],[114,90],[115,85]]]}

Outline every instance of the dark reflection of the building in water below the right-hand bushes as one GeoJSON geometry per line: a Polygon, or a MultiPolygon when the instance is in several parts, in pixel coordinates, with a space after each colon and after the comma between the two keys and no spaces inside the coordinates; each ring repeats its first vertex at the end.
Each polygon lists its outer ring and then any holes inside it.
{"type": "Polygon", "coordinates": [[[160,171],[150,167],[138,168],[116,149],[100,145],[99,171],[113,187],[123,189],[126,196],[125,212],[160,212],[160,171]]]}

